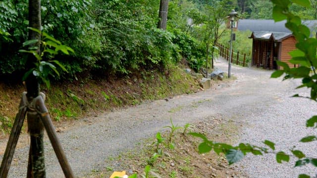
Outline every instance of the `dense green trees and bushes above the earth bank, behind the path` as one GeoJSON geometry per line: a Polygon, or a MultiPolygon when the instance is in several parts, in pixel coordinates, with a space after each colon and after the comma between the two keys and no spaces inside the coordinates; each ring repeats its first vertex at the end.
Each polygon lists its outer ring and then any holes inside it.
{"type": "MultiPolygon", "coordinates": [[[[291,10],[303,19],[316,19],[317,0],[311,2],[313,8],[292,5],[291,10]]],[[[68,73],[59,71],[63,75],[54,80],[83,74],[127,75],[140,69],[161,70],[182,60],[198,71],[206,60],[210,65],[209,56],[214,52],[211,46],[228,35],[223,24],[231,9],[243,18],[272,16],[269,0],[170,0],[164,31],[157,28],[159,3],[160,0],[42,0],[42,31],[75,51],[56,56],[68,73]],[[192,24],[188,24],[189,18],[192,24]]],[[[27,57],[19,49],[27,40],[27,7],[28,0],[0,1],[2,80],[25,73],[27,57]]]]}

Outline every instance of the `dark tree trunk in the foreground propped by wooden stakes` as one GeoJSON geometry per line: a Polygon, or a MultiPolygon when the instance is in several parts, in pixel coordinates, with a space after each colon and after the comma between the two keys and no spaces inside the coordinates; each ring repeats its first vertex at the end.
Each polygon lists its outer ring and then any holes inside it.
{"type": "MultiPolygon", "coordinates": [[[[29,0],[29,27],[38,29],[41,31],[41,0],[29,0]]],[[[41,34],[29,30],[28,40],[39,40],[37,44],[37,52],[40,53],[40,40],[41,34]]],[[[34,55],[30,54],[27,61],[27,69],[32,69],[34,67],[34,62],[36,62],[34,55]]],[[[40,93],[40,85],[36,76],[32,73],[26,79],[26,90],[28,101],[31,102],[40,93]]],[[[44,161],[44,144],[43,135],[44,127],[38,113],[31,109],[28,110],[28,132],[30,133],[30,153],[31,158],[28,166],[28,170],[31,174],[28,175],[30,178],[45,178],[45,161],[44,161]]]]}

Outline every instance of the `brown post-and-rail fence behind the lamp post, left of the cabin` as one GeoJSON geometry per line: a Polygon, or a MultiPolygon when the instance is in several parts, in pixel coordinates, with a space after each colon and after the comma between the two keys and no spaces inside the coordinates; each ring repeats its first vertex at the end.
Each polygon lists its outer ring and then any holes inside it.
{"type": "MultiPolygon", "coordinates": [[[[217,44],[217,47],[219,48],[219,55],[229,61],[230,53],[229,53],[229,47],[226,47],[225,45],[217,44]]],[[[237,65],[241,65],[243,67],[248,66],[248,61],[250,56],[247,56],[246,53],[241,54],[239,51],[234,52],[233,49],[231,50],[231,63],[235,63],[237,65]]]]}

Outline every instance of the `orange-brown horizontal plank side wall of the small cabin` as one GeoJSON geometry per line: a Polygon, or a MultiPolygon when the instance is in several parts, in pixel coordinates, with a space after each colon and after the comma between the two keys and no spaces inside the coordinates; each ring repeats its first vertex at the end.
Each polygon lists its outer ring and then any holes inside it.
{"type": "Polygon", "coordinates": [[[295,37],[290,37],[282,41],[281,43],[281,54],[280,60],[288,64],[290,68],[294,67],[294,64],[291,64],[289,60],[292,58],[289,55],[289,52],[296,49],[296,40],[295,37]]]}

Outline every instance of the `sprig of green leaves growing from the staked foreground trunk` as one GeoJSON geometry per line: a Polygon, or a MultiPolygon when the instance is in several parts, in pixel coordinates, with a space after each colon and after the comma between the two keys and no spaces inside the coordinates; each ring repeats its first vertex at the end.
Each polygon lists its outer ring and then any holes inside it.
{"type": "Polygon", "coordinates": [[[53,58],[56,54],[58,54],[59,51],[69,55],[69,52],[74,53],[74,50],[66,45],[62,45],[58,40],[54,39],[45,32],[41,32],[40,30],[31,27],[28,27],[28,29],[41,34],[42,40],[28,40],[23,43],[23,46],[30,46],[28,50],[19,50],[19,52],[33,54],[37,59],[37,61],[34,63],[35,67],[26,72],[22,80],[24,81],[30,74],[33,74],[37,78],[41,79],[48,88],[50,88],[51,83],[48,78],[49,75],[54,76],[55,74],[59,77],[59,72],[56,69],[56,65],[59,66],[64,72],[67,72],[66,68],[61,63],[59,63],[58,60],[53,60],[53,58]],[[39,53],[39,47],[34,45],[37,43],[40,43],[41,46],[39,53]]]}

